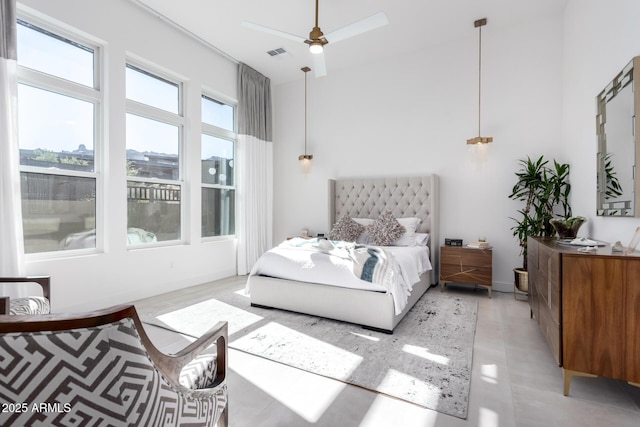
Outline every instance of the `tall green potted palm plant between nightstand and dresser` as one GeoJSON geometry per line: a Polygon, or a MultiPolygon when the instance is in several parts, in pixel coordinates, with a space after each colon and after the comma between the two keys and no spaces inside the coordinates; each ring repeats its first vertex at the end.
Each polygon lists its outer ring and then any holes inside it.
{"type": "Polygon", "coordinates": [[[562,212],[563,218],[571,217],[569,194],[569,165],[549,161],[540,156],[537,160],[530,157],[519,160],[520,170],[516,172],[517,181],[509,198],[524,202],[518,210],[519,218],[512,218],[516,225],[511,228],[518,239],[523,257],[522,267],[514,269],[515,286],[521,292],[529,290],[527,274],[527,239],[530,236],[553,236],[556,231],[551,220],[556,211],[562,212]]]}

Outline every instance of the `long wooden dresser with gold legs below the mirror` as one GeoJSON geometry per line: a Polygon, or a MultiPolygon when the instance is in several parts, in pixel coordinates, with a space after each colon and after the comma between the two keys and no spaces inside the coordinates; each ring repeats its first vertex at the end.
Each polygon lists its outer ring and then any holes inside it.
{"type": "Polygon", "coordinates": [[[640,386],[640,254],[535,237],[527,263],[531,316],[563,368],[564,394],[575,375],[640,386]]]}

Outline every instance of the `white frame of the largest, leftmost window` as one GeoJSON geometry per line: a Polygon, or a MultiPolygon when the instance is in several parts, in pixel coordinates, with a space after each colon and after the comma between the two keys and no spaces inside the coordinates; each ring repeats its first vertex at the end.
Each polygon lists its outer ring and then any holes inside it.
{"type": "MultiPolygon", "coordinates": [[[[64,79],[43,71],[28,68],[24,65],[17,65],[17,83],[27,85],[36,89],[49,91],[58,95],[71,97],[93,104],[93,171],[79,171],[62,168],[40,168],[37,166],[19,165],[20,175],[22,173],[35,173],[42,175],[72,176],[79,178],[89,178],[95,181],[95,247],[81,249],[67,249],[44,252],[25,253],[26,259],[52,259],[74,257],[79,254],[92,254],[104,251],[105,227],[104,207],[105,191],[104,179],[102,177],[104,159],[104,127],[106,124],[106,107],[104,93],[104,79],[102,66],[105,64],[104,46],[97,40],[91,39],[80,32],[62,28],[49,21],[39,19],[29,13],[18,10],[16,25],[26,25],[41,31],[50,37],[62,40],[66,43],[78,45],[79,48],[93,50],[93,87],[89,87],[71,80],[64,79]],[[80,47],[81,46],[81,47],[80,47]]],[[[18,41],[19,43],[19,41],[18,41]]],[[[18,101],[19,102],[19,101],[18,101]]],[[[18,136],[19,138],[19,136],[18,136]]],[[[22,202],[22,198],[21,198],[22,202]]],[[[23,216],[24,218],[24,216],[23,216]]],[[[24,237],[24,233],[23,233],[24,237]]]]}

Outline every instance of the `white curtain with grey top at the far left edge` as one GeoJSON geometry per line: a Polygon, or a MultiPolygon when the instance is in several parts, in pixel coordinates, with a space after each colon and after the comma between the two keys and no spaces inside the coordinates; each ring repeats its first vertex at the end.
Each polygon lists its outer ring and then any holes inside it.
{"type": "Polygon", "coordinates": [[[0,0],[0,276],[24,275],[18,149],[16,2],[0,0]]]}

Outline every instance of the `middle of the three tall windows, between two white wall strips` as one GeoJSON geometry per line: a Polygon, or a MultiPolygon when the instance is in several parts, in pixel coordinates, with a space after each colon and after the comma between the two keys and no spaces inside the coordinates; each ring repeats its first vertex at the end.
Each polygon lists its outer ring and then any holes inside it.
{"type": "Polygon", "coordinates": [[[180,85],[131,64],[127,94],[127,243],[180,240],[180,85]]]}

